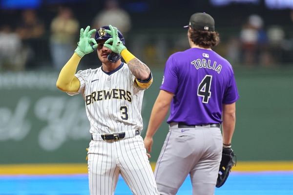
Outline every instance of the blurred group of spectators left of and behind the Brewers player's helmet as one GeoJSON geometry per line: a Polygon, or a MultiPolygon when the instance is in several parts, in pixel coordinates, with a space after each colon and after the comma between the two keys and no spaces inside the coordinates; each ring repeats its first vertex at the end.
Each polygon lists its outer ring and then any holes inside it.
{"type": "Polygon", "coordinates": [[[102,9],[91,23],[81,25],[73,10],[58,6],[55,16],[46,29],[44,20],[37,10],[25,9],[21,20],[13,27],[5,22],[0,25],[0,70],[23,71],[52,68],[60,71],[72,56],[79,41],[80,28],[91,25],[99,28],[112,24],[123,34],[131,27],[129,14],[117,0],[105,0],[102,9]]]}

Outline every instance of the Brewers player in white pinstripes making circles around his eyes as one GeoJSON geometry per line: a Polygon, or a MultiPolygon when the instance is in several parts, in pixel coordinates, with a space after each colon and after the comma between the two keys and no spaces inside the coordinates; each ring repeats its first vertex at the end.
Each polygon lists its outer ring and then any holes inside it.
{"type": "Polygon", "coordinates": [[[81,29],[78,47],[56,85],[69,95],[84,97],[92,134],[87,157],[90,194],[113,195],[121,174],[134,195],[159,195],[140,135],[143,95],[152,83],[151,72],[126,49],[117,28],[89,29],[81,29]],[[102,66],[76,73],[82,57],[95,49],[102,66]]]}

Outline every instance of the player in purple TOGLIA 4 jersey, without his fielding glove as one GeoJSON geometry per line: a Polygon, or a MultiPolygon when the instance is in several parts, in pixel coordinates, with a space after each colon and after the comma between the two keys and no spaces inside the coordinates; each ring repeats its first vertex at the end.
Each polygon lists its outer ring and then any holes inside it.
{"type": "Polygon", "coordinates": [[[185,27],[191,48],[167,60],[144,142],[151,152],[152,137],[170,108],[169,131],[154,173],[158,191],[175,195],[189,174],[192,195],[213,195],[222,146],[231,145],[239,94],[232,66],[211,50],[219,43],[213,18],[195,13],[185,27]]]}

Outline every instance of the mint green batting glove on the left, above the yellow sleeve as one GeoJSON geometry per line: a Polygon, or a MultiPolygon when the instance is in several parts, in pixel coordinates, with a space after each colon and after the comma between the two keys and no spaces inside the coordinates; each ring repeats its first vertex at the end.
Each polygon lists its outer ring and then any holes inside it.
{"type": "Polygon", "coordinates": [[[89,31],[89,28],[90,26],[87,26],[85,30],[83,28],[81,29],[80,41],[77,43],[78,46],[74,50],[74,52],[81,58],[84,57],[85,54],[93,52],[98,46],[96,40],[94,38],[90,38],[91,35],[97,30],[92,29],[89,31]],[[91,45],[91,43],[93,43],[93,45],[91,45]]]}

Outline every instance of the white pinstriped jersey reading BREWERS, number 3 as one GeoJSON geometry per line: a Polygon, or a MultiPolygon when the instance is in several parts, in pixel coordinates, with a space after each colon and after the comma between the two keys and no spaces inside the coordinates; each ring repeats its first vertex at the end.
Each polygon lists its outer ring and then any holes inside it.
{"type": "Polygon", "coordinates": [[[144,90],[134,84],[135,77],[122,63],[112,72],[96,69],[78,71],[75,76],[85,101],[90,133],[105,134],[127,130],[142,130],[141,108],[144,90]],[[128,78],[128,79],[126,79],[128,78]]]}

